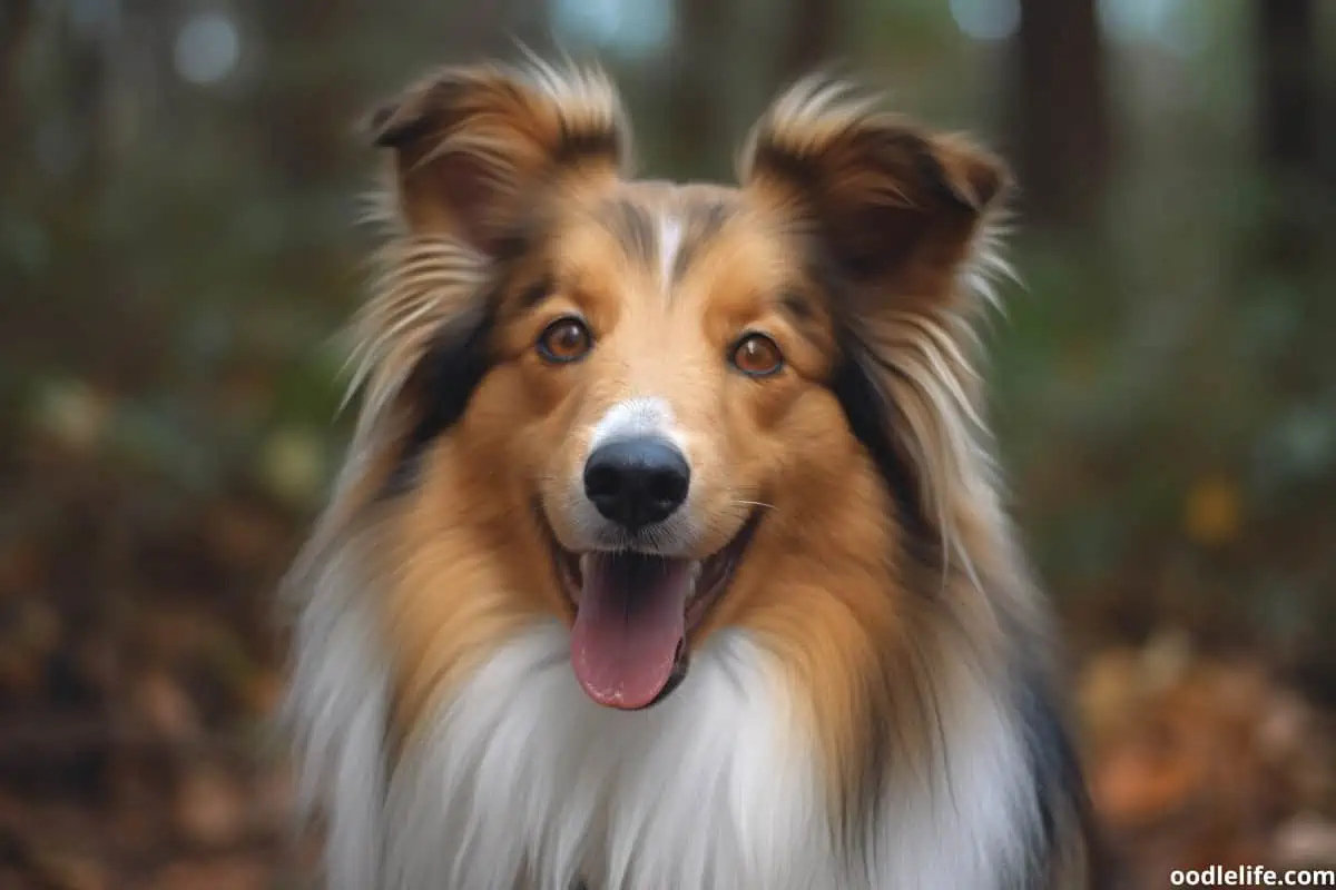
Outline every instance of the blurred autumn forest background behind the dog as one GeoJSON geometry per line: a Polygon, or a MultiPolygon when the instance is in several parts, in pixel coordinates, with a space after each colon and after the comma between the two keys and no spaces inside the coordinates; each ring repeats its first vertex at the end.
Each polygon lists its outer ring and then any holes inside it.
{"type": "Polygon", "coordinates": [[[0,0],[0,886],[303,886],[274,583],[346,432],[354,124],[597,56],[723,177],[838,63],[1015,165],[990,332],[1126,887],[1336,867],[1336,3],[0,0]]]}

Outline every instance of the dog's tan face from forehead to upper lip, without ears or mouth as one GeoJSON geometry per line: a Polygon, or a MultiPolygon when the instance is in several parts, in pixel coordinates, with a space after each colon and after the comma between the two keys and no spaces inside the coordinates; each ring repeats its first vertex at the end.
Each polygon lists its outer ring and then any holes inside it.
{"type": "Polygon", "coordinates": [[[616,183],[525,258],[477,406],[566,552],[704,560],[840,426],[828,328],[758,216],[723,189],[616,183]]]}

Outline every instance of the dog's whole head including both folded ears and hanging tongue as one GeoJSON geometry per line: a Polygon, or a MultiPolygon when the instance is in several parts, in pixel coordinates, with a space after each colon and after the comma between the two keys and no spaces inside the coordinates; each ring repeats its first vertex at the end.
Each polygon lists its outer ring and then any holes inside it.
{"type": "Polygon", "coordinates": [[[517,584],[570,622],[595,701],[671,693],[767,595],[747,568],[792,540],[767,526],[830,515],[859,467],[933,524],[915,452],[949,431],[906,390],[943,386],[995,161],[808,85],[739,188],[628,181],[611,88],[546,69],[445,72],[377,127],[407,228],[366,323],[387,484],[449,478],[502,560],[542,554],[517,584]]]}

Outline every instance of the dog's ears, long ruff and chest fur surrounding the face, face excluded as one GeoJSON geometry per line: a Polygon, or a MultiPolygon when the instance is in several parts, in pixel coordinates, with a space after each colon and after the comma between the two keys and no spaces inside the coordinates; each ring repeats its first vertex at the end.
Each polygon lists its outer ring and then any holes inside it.
{"type": "MultiPolygon", "coordinates": [[[[783,506],[767,515],[756,546],[776,566],[810,547],[807,574],[767,580],[754,551],[737,583],[758,592],[711,626],[680,690],[625,714],[581,691],[569,616],[516,604],[512,567],[493,564],[508,558],[474,546],[485,536],[448,566],[424,555],[430,503],[484,484],[452,470],[473,454],[456,428],[478,411],[509,306],[498,295],[540,226],[525,211],[538,189],[573,203],[621,176],[616,92],[601,73],[538,63],[449,69],[374,129],[393,163],[381,274],[354,326],[361,412],[287,583],[287,718],[329,886],[1092,886],[1047,612],[1001,504],[975,371],[975,324],[1010,274],[1001,167],[822,79],[752,131],[747,219],[788,220],[812,246],[800,274],[827,295],[812,312],[835,356],[823,386],[852,448],[834,463],[854,474],[846,512],[875,522],[836,540],[783,506]],[[868,240],[908,226],[912,252],[894,263],[868,240]],[[860,599],[870,584],[886,595],[860,599]],[[456,586],[469,588],[460,606],[430,594],[456,586]],[[767,603],[780,588],[826,611],[767,603]],[[411,611],[387,606],[402,602],[411,611]],[[446,614],[456,630],[418,627],[446,614]],[[421,647],[434,659],[421,682],[406,679],[420,636],[437,640],[421,647]]],[[[692,232],[721,231],[700,220],[733,199],[660,193],[624,204],[668,270],[692,232]]]]}

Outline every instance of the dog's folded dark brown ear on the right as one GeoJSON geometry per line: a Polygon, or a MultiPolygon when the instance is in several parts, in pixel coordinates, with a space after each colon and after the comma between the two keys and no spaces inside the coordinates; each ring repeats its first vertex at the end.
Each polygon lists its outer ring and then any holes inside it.
{"type": "Polygon", "coordinates": [[[815,240],[822,262],[884,299],[951,292],[981,221],[1010,185],[1002,161],[810,79],[780,97],[740,157],[744,189],[815,240]]]}

